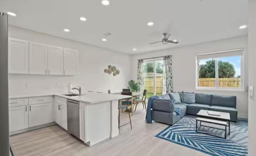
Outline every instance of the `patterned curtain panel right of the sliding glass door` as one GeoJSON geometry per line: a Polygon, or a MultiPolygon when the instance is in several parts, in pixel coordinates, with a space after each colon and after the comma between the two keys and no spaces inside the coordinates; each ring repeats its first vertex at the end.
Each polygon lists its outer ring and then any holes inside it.
{"type": "Polygon", "coordinates": [[[162,94],[172,92],[172,55],[164,56],[162,94]]]}

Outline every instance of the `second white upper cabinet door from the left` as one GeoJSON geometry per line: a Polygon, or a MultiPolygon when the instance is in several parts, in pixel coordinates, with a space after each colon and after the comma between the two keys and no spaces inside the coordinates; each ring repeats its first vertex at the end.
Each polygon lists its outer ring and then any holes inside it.
{"type": "Polygon", "coordinates": [[[47,45],[29,43],[29,73],[47,74],[47,45]]]}

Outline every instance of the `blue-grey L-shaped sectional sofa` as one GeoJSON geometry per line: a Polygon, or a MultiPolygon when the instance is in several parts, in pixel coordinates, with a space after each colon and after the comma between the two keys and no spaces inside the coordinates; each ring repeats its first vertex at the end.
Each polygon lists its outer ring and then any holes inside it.
{"type": "Polygon", "coordinates": [[[237,121],[236,96],[195,93],[194,103],[184,103],[182,92],[179,92],[179,95],[181,102],[175,104],[170,94],[164,94],[158,96],[158,99],[154,99],[151,107],[152,120],[173,125],[186,114],[196,115],[200,109],[206,109],[230,113],[230,121],[237,121]],[[179,115],[174,111],[175,108],[180,110],[179,115]]]}

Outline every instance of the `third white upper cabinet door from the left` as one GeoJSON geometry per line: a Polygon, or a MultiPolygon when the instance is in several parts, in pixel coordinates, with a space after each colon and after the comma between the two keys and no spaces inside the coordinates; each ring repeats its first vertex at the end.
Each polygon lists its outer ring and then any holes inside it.
{"type": "Polygon", "coordinates": [[[63,48],[48,45],[48,74],[63,75],[63,48]]]}

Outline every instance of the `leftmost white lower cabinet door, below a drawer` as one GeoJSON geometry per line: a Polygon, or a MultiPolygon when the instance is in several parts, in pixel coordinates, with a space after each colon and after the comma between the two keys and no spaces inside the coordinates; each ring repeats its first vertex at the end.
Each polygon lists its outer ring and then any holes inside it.
{"type": "Polygon", "coordinates": [[[9,108],[10,132],[28,128],[28,105],[9,108]]]}

